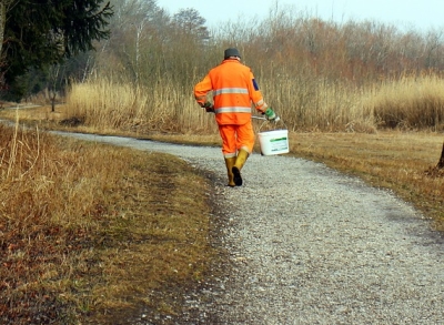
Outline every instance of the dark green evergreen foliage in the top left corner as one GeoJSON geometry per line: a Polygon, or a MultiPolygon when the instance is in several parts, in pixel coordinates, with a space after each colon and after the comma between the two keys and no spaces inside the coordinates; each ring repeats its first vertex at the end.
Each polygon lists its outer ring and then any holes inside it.
{"type": "Polygon", "coordinates": [[[7,12],[1,73],[11,94],[22,97],[17,81],[31,68],[57,64],[93,49],[109,37],[113,11],[103,0],[22,0],[7,12]]]}

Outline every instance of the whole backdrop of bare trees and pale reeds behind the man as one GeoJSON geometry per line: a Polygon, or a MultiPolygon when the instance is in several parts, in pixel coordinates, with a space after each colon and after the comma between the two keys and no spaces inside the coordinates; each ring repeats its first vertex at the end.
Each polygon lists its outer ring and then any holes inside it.
{"type": "Polygon", "coordinates": [[[213,130],[192,89],[221,62],[224,48],[235,45],[292,131],[443,128],[444,45],[434,31],[339,24],[281,8],[264,21],[230,22],[202,33],[205,27],[193,11],[163,26],[128,4],[115,6],[129,16],[115,19],[132,23],[115,24],[107,51],[90,58],[93,71],[72,83],[67,100],[70,114],[87,125],[140,133],[213,130]]]}

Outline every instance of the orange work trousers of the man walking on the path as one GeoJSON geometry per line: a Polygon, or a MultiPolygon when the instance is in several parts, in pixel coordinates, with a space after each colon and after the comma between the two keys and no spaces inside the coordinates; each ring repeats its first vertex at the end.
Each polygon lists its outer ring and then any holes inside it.
{"type": "Polygon", "coordinates": [[[242,125],[219,125],[219,133],[222,138],[224,158],[236,156],[238,151],[241,149],[252,153],[255,136],[251,121],[242,125]]]}

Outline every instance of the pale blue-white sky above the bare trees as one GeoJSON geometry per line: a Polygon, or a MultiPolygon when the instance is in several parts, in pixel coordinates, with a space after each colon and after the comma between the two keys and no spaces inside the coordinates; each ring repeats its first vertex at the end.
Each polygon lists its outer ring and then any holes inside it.
{"type": "Polygon", "coordinates": [[[170,14],[193,8],[208,27],[242,19],[263,20],[278,8],[339,23],[371,20],[402,30],[444,30],[444,0],[158,0],[157,3],[170,14]]]}

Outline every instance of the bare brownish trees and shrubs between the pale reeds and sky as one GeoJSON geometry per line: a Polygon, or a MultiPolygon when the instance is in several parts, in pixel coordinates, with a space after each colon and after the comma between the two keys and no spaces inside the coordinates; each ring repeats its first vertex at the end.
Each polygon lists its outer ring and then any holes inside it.
{"type": "Polygon", "coordinates": [[[226,45],[240,48],[245,63],[264,78],[306,74],[363,85],[444,69],[437,30],[421,33],[375,21],[337,23],[285,9],[263,21],[228,21],[209,30],[195,9],[169,16],[147,0],[114,1],[113,7],[111,38],[98,44],[93,59],[101,75],[134,83],[168,75],[191,84],[190,75],[200,77],[216,64],[226,45]]]}

